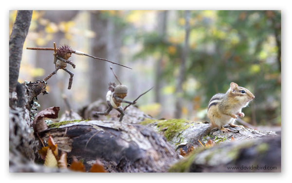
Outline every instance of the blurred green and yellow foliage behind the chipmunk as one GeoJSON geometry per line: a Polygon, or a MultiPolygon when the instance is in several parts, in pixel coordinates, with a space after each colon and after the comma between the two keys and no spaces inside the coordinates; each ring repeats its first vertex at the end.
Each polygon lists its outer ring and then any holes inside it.
{"type": "MultiPolygon", "coordinates": [[[[166,35],[156,31],[142,33],[142,49],[135,58],[163,56],[164,80],[175,85],[181,63],[184,40],[183,11],[168,21],[166,35]]],[[[244,109],[245,118],[266,124],[279,124],[281,119],[281,12],[280,11],[192,11],[189,54],[185,78],[200,85],[184,88],[184,99],[201,96],[201,109],[206,108],[216,93],[225,93],[230,82],[250,89],[256,99],[244,109]],[[253,106],[253,107],[252,107],[253,106]]]]}

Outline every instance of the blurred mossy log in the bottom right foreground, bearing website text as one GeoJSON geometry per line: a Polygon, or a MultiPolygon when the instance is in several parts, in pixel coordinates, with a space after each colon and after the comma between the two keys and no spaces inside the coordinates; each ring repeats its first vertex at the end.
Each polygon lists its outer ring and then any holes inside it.
{"type": "Polygon", "coordinates": [[[281,172],[281,136],[201,147],[173,165],[169,172],[281,172]]]}

